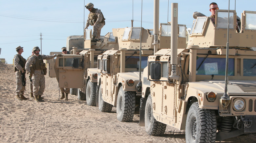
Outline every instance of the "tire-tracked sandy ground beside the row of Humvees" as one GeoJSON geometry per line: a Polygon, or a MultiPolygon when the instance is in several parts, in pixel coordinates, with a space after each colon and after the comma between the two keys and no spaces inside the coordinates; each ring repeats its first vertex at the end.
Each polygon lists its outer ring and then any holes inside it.
{"type": "MultiPolygon", "coordinates": [[[[110,113],[69,95],[68,101],[58,100],[55,78],[46,78],[45,102],[34,99],[15,100],[14,67],[0,62],[0,142],[85,142],[85,143],[158,143],[185,142],[185,131],[167,126],[162,136],[150,136],[139,126],[139,112],[133,122],[116,119],[116,108],[110,113]]],[[[27,80],[27,83],[29,81],[27,80]]],[[[28,85],[28,84],[27,84],[28,85]]],[[[25,96],[29,97],[27,86],[25,96]]],[[[256,135],[226,139],[226,143],[256,142],[256,135]]]]}

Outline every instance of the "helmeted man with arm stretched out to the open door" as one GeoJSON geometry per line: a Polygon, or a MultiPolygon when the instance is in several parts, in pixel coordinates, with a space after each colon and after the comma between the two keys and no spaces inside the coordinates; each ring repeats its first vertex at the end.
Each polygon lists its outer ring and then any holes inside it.
{"type": "Polygon", "coordinates": [[[39,55],[40,49],[39,47],[34,47],[32,52],[34,53],[28,61],[26,62],[25,69],[32,74],[32,85],[33,85],[33,94],[35,96],[35,102],[44,102],[41,98],[42,94],[44,93],[45,89],[45,77],[46,75],[46,67],[45,63],[43,62],[44,59],[51,59],[55,56],[60,56],[61,54],[57,55],[39,55]],[[32,66],[31,66],[32,65],[32,66]]]}

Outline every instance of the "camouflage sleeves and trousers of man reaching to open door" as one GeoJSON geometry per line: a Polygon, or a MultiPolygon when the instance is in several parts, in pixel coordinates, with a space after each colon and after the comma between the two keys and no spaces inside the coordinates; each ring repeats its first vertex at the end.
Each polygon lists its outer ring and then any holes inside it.
{"type": "MultiPolygon", "coordinates": [[[[26,62],[25,69],[28,72],[31,72],[30,66],[32,64],[36,63],[36,60],[43,60],[43,59],[52,59],[54,58],[54,55],[33,55],[31,56],[28,61],[26,62]]],[[[44,93],[45,89],[45,77],[44,77],[44,71],[43,70],[34,70],[34,73],[32,75],[32,85],[33,85],[33,94],[35,96],[35,101],[36,99],[40,100],[41,96],[44,93]]]]}

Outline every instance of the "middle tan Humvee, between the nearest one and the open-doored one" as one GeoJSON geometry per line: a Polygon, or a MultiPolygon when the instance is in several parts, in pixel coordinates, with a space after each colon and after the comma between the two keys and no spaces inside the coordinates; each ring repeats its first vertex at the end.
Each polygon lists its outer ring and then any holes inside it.
{"type": "MultiPolygon", "coordinates": [[[[157,38],[160,48],[170,45],[170,30],[171,24],[160,24],[157,38]]],[[[185,48],[186,25],[179,25],[178,34],[179,46],[185,48]]],[[[141,99],[141,88],[137,86],[139,65],[143,70],[148,56],[153,55],[154,34],[152,29],[126,27],[113,29],[113,35],[118,39],[119,50],[108,50],[98,56],[97,104],[102,112],[110,112],[113,106],[117,106],[117,119],[129,122],[133,120],[135,107],[139,106],[141,99]]]]}

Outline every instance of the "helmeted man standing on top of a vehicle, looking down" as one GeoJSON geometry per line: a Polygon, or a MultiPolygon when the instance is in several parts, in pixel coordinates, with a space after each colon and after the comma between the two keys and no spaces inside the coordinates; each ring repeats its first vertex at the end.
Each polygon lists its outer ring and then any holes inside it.
{"type": "Polygon", "coordinates": [[[92,3],[88,3],[85,8],[90,11],[85,29],[87,29],[89,25],[93,26],[93,38],[91,41],[96,42],[97,40],[95,39],[100,39],[100,31],[101,28],[105,25],[105,18],[98,8],[94,8],[92,3]]]}

